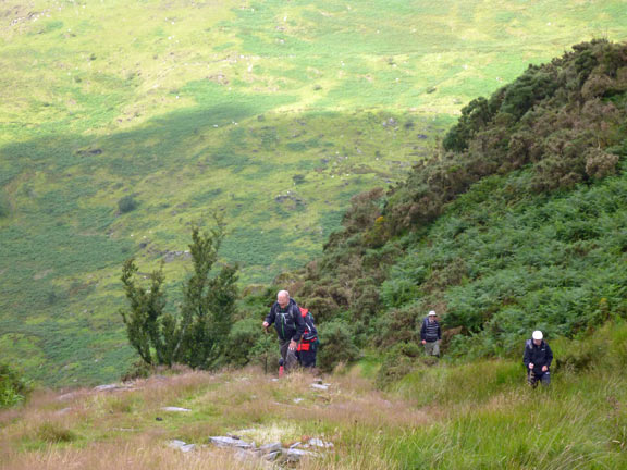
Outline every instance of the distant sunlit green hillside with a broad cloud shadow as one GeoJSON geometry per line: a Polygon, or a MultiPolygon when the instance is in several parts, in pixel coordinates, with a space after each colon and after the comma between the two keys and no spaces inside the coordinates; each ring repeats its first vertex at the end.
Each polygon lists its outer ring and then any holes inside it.
{"type": "Polygon", "coordinates": [[[125,258],[172,261],[176,298],[189,225],[218,210],[224,257],[267,283],[320,252],[351,196],[432,153],[463,103],[570,44],[625,37],[620,1],[0,13],[0,354],[62,384],[110,380],[132,357],[125,258]]]}

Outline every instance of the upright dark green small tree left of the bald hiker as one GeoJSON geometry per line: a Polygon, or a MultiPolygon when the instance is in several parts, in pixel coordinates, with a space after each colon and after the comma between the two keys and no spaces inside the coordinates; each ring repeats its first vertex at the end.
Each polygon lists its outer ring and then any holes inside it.
{"type": "Polygon", "coordinates": [[[130,309],[121,310],[131,345],[147,364],[185,363],[211,368],[223,354],[233,323],[237,290],[237,267],[224,265],[211,275],[224,237],[223,224],[201,233],[192,232],[189,245],[194,273],[183,289],[177,314],[165,311],[162,267],[149,275],[150,288],[137,285],[133,259],[122,269],[130,309]]]}

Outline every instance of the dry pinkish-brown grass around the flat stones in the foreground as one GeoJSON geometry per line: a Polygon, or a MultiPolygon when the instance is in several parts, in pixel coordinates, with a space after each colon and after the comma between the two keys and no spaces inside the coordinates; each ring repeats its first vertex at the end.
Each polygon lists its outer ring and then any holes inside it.
{"type": "Polygon", "coordinates": [[[0,413],[0,468],[260,468],[259,461],[237,460],[233,450],[207,447],[183,454],[167,447],[172,438],[202,444],[211,435],[239,431],[258,445],[286,445],[305,435],[331,440],[333,453],[303,462],[307,470],[391,468],[372,431],[403,433],[432,419],[358,374],[328,381],[331,387],[324,392],[311,388],[314,378],[303,372],[273,381],[258,369],[188,371],[136,381],[131,391],[38,393],[25,407],[0,413]],[[164,406],[193,412],[170,416],[161,410],[164,406]],[[164,420],[156,421],[157,416],[164,420]],[[316,423],[323,423],[327,435],[316,423]],[[365,437],[355,437],[357,429],[367,430],[365,437]],[[373,452],[355,452],[356,438],[368,440],[373,452]]]}

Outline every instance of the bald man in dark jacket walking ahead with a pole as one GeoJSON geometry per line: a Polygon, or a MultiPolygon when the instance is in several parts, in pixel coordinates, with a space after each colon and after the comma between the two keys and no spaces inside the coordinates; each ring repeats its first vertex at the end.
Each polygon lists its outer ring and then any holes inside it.
{"type": "Polygon", "coordinates": [[[274,329],[281,342],[281,358],[283,359],[285,371],[288,372],[298,364],[296,348],[305,332],[305,322],[298,306],[294,299],[290,298],[287,290],[279,290],[276,294],[276,301],[272,305],[268,317],[266,317],[263,327],[268,329],[272,323],[274,323],[274,329]]]}

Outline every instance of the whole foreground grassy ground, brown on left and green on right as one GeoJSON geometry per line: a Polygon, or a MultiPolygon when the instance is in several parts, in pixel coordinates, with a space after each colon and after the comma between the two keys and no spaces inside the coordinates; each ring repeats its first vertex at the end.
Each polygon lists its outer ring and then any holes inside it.
{"type": "MultiPolygon", "coordinates": [[[[65,468],[267,468],[206,444],[233,433],[259,446],[333,443],[300,469],[620,469],[627,459],[624,321],[581,342],[553,341],[552,387],[530,389],[520,358],[426,367],[388,391],[358,366],[273,382],[255,369],[138,381],[131,391],[41,393],[0,412],[0,463],[65,468]],[[585,361],[587,360],[587,362],[585,361]],[[179,406],[188,412],[162,408],[179,406]],[[159,418],[160,420],[158,420],[159,418]],[[197,445],[184,454],[171,440],[197,445]]],[[[519,345],[522,346],[522,345],[519,345]]],[[[519,351],[520,352],[520,351],[519,351]]]]}

